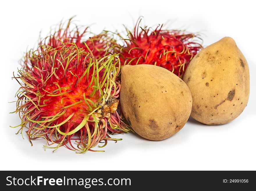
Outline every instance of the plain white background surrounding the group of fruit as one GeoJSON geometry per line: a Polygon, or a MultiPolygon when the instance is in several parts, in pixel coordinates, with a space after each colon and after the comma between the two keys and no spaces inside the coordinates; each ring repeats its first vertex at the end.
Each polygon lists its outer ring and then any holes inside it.
{"type": "MultiPolygon", "coordinates": [[[[1,3],[1,170],[256,170],[255,149],[255,4],[253,1],[3,1],[1,3]],[[36,45],[39,32],[47,35],[50,26],[77,15],[77,24],[91,30],[123,30],[133,27],[140,15],[148,26],[169,23],[170,29],[187,29],[204,34],[204,46],[224,36],[234,38],[250,68],[248,106],[234,121],[206,126],[189,119],[176,135],[154,142],[134,133],[115,135],[106,152],[76,154],[59,148],[44,151],[45,140],[15,135],[20,123],[15,110],[18,83],[12,80],[18,60],[27,48],[36,45]]],[[[24,133],[25,134],[25,133],[24,133]]],[[[25,134],[26,135],[26,134],[25,134]]]]}

